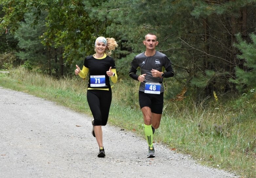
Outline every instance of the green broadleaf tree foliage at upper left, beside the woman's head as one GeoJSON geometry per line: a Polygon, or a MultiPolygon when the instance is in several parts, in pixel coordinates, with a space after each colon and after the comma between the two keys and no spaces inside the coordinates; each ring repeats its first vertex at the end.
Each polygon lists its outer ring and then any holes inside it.
{"type": "MultiPolygon", "coordinates": [[[[50,60],[59,62],[61,67],[65,65],[66,71],[69,73],[69,67],[75,67],[76,61],[80,61],[86,55],[94,52],[93,44],[99,35],[94,32],[102,23],[89,19],[88,14],[84,11],[82,0],[42,0],[40,2],[4,0],[3,12],[5,15],[0,19],[2,21],[0,26],[8,28],[9,32],[13,34],[21,27],[19,22],[23,21],[26,13],[31,13],[34,18],[31,25],[37,25],[45,11],[47,11],[44,21],[46,29],[43,34],[38,33],[37,35],[40,36],[46,50],[53,48],[50,51],[57,52],[50,55],[50,60]]],[[[49,70],[51,70],[50,66],[49,70]]],[[[73,68],[70,70],[73,73],[73,68]]]]}

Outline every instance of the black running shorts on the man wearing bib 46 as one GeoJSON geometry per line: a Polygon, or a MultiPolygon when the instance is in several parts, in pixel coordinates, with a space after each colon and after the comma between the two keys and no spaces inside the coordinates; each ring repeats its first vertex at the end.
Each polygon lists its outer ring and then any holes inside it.
{"type": "Polygon", "coordinates": [[[151,112],[162,114],[164,105],[164,92],[160,94],[149,94],[139,91],[140,108],[145,106],[151,109],[151,112]]]}

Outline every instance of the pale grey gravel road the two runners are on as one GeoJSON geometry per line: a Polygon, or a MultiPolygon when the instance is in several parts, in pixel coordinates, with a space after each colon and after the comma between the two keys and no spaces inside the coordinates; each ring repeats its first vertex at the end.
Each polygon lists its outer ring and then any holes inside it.
{"type": "Polygon", "coordinates": [[[133,132],[104,126],[105,158],[91,135],[91,118],[42,98],[0,87],[0,177],[236,178],[191,156],[147,143],[133,132]]]}

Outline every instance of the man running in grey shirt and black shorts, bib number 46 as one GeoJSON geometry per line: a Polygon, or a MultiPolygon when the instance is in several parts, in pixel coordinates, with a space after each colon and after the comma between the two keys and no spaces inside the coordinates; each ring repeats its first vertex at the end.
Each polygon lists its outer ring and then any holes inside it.
{"type": "Polygon", "coordinates": [[[136,55],[131,62],[129,76],[140,83],[139,103],[143,113],[144,132],[148,142],[147,157],[155,157],[153,146],[153,133],[160,125],[163,103],[164,85],[163,78],[173,77],[173,69],[169,58],[155,50],[158,45],[155,34],[148,33],[143,44],[146,51],[136,55]],[[140,67],[141,74],[137,75],[137,68],[140,67]],[[165,67],[166,71],[162,72],[165,67]]]}

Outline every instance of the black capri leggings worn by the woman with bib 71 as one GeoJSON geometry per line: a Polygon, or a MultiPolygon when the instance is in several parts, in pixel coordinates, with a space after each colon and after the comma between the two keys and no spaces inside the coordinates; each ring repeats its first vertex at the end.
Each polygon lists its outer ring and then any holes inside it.
{"type": "Polygon", "coordinates": [[[112,100],[112,91],[87,90],[87,101],[94,118],[94,126],[106,126],[112,100]]]}

